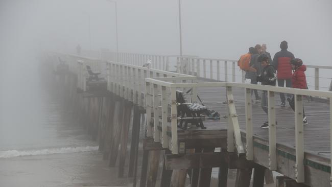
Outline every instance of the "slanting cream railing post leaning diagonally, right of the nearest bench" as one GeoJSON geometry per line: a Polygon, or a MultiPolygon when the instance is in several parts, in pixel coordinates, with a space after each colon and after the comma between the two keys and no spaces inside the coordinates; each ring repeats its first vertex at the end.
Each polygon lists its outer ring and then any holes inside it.
{"type": "MultiPolygon", "coordinates": [[[[242,139],[241,139],[238,114],[236,114],[236,109],[235,109],[235,104],[234,104],[234,99],[233,99],[232,87],[230,87],[230,86],[226,87],[226,97],[227,97],[227,106],[228,106],[227,108],[228,108],[229,125],[232,126],[231,129],[229,129],[229,130],[230,131],[233,130],[233,132],[234,132],[230,137],[227,137],[227,141],[231,141],[230,138],[233,138],[233,136],[234,136],[235,145],[236,145],[236,149],[238,150],[238,153],[239,154],[245,153],[242,139]]],[[[230,134],[228,134],[227,136],[229,136],[229,135],[230,134]]],[[[230,142],[228,142],[227,145],[228,145],[228,147],[234,146],[234,145],[231,145],[230,142]]]]}

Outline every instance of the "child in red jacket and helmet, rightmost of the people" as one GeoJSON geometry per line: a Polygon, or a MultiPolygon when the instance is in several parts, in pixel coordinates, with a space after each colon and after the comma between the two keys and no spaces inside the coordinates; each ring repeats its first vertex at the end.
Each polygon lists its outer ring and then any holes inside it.
{"type": "MultiPolygon", "coordinates": [[[[294,58],[291,60],[291,66],[293,69],[293,76],[292,76],[292,87],[293,88],[300,88],[300,89],[307,89],[306,85],[306,78],[304,72],[306,71],[306,66],[303,65],[303,62],[299,58],[294,58]]],[[[288,102],[295,111],[295,101],[294,101],[295,96],[293,95],[293,98],[290,99],[288,98],[288,102]]],[[[303,107],[303,125],[307,125],[308,122],[306,120],[306,116],[304,114],[304,107],[303,107]]]]}

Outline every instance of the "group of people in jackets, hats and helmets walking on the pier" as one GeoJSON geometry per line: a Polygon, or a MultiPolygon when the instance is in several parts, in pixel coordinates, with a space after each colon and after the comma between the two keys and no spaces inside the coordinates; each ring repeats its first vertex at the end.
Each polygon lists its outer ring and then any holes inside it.
{"type": "MultiPolygon", "coordinates": [[[[262,85],[275,86],[278,82],[279,87],[286,87],[307,89],[305,71],[306,66],[302,60],[295,58],[294,55],[288,51],[287,41],[281,41],[280,51],[277,52],[273,60],[270,53],[266,51],[266,44],[255,45],[249,48],[251,54],[250,67],[254,71],[246,71],[245,78],[250,80],[251,84],[260,82],[262,85]]],[[[268,114],[268,96],[267,91],[262,91],[262,96],[259,97],[257,90],[253,90],[255,99],[261,100],[262,109],[268,114]]],[[[252,93],[253,93],[252,92],[252,93]]],[[[286,97],[284,93],[280,92],[281,107],[286,106],[286,97]]],[[[294,95],[287,95],[287,101],[293,110],[295,110],[294,95]]],[[[275,122],[277,124],[277,122],[275,122]]],[[[303,125],[307,125],[306,116],[303,108],[303,125]]],[[[260,128],[269,128],[269,121],[264,122],[260,128]]]]}

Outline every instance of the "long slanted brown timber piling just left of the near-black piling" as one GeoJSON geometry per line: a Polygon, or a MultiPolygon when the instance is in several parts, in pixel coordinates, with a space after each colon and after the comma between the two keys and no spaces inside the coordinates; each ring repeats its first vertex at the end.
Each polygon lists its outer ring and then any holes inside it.
{"type": "Polygon", "coordinates": [[[119,166],[118,166],[118,177],[123,177],[124,175],[131,110],[132,110],[132,104],[130,104],[129,102],[126,103],[124,110],[125,111],[124,120],[122,124],[122,133],[121,133],[121,151],[120,151],[119,166]]]}

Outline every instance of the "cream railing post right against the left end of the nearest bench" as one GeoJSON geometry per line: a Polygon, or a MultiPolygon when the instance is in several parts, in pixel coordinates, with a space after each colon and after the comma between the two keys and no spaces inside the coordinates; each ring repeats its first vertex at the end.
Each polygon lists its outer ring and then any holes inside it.
{"type": "Polygon", "coordinates": [[[171,88],[171,129],[172,129],[172,154],[178,154],[178,120],[176,109],[176,88],[171,88]]]}

